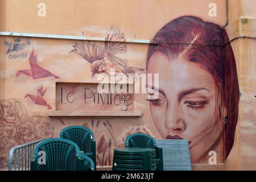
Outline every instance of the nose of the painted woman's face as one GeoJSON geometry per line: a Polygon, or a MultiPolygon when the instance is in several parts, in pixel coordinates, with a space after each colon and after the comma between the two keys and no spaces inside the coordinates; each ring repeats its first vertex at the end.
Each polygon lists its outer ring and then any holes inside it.
{"type": "Polygon", "coordinates": [[[167,109],[165,125],[166,129],[171,131],[185,130],[185,121],[183,119],[182,112],[179,111],[178,107],[167,109]]]}

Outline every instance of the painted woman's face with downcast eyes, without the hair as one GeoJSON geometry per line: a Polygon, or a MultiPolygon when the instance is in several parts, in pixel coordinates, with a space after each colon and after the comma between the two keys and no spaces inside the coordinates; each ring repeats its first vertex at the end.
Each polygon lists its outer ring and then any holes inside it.
{"type": "Polygon", "coordinates": [[[147,88],[158,92],[158,98],[149,95],[148,101],[162,137],[187,139],[192,163],[208,156],[208,151],[218,145],[222,132],[222,124],[216,122],[214,114],[217,86],[213,77],[199,64],[170,60],[161,53],[150,57],[147,73],[159,73],[159,88],[148,81],[147,88]]]}

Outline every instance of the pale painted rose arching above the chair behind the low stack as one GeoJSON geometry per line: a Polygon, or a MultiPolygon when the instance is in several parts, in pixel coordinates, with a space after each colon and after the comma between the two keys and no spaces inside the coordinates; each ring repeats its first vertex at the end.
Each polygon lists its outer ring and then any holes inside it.
{"type": "Polygon", "coordinates": [[[147,135],[150,135],[151,137],[154,138],[154,135],[151,133],[150,129],[148,129],[146,125],[142,125],[142,126],[131,126],[131,125],[129,125],[127,127],[123,127],[122,134],[119,135],[119,137],[117,138],[118,148],[125,147],[126,137],[131,135],[131,134],[135,134],[135,133],[147,134],[147,135]]]}

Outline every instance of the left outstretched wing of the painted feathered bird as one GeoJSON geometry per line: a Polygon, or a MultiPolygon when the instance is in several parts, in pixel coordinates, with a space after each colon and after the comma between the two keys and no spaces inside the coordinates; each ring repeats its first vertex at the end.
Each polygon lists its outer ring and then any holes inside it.
{"type": "Polygon", "coordinates": [[[89,63],[93,63],[96,60],[102,60],[105,56],[104,48],[97,46],[95,43],[75,43],[71,52],[78,53],[82,58],[84,58],[89,63]]]}

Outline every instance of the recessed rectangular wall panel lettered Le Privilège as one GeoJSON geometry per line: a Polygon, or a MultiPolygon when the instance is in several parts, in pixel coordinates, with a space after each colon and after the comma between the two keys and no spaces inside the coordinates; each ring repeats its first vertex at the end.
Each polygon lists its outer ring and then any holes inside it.
{"type": "Polygon", "coordinates": [[[98,83],[57,82],[56,110],[133,110],[133,93],[128,93],[129,86],[123,86],[122,93],[115,90],[117,84],[106,86],[109,92],[102,93],[98,83]]]}

